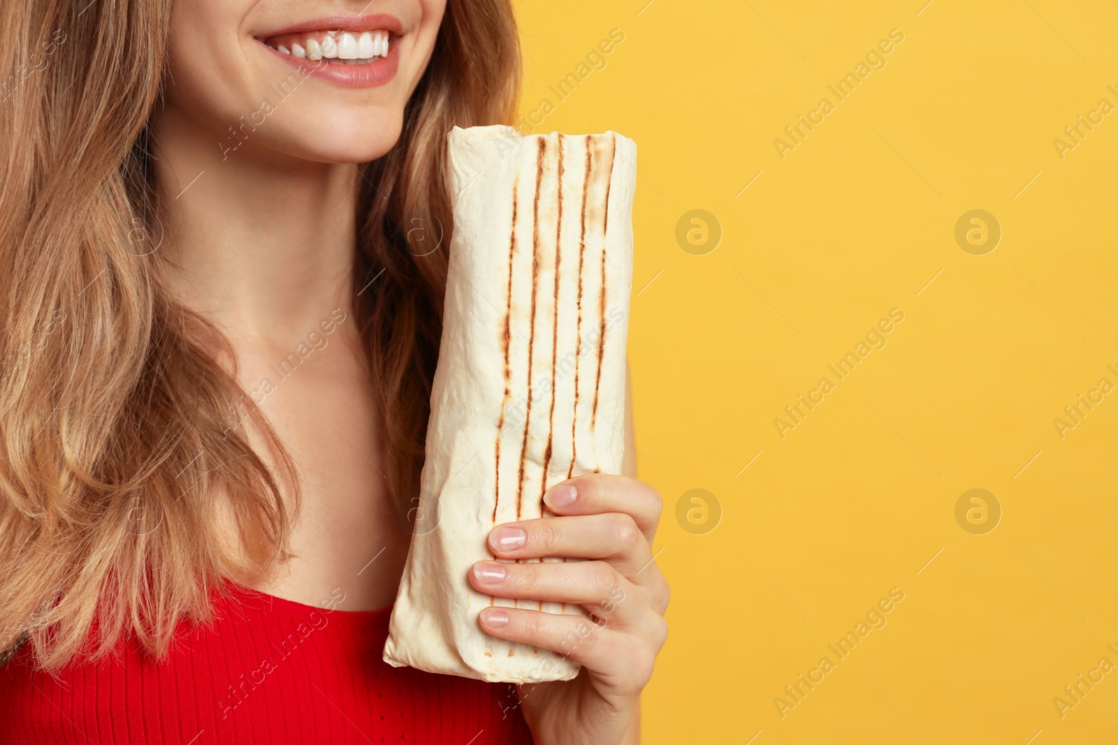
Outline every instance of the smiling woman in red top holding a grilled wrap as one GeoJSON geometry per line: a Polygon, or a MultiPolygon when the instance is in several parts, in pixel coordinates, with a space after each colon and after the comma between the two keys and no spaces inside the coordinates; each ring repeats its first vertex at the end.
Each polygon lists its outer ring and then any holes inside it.
{"type": "MultiPolygon", "coordinates": [[[[667,588],[659,496],[629,478],[575,478],[557,517],[490,539],[594,561],[471,576],[591,609],[561,650],[576,680],[380,661],[439,343],[445,135],[511,121],[508,0],[0,18],[0,742],[637,742],[667,588]]],[[[557,650],[575,622],[479,619],[557,650]]]]}

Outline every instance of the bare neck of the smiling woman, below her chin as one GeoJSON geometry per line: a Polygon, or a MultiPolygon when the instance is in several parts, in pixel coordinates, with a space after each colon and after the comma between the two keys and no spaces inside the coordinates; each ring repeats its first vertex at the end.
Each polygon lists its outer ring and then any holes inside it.
{"type": "Polygon", "coordinates": [[[219,146],[178,112],[152,121],[155,182],[176,297],[235,344],[288,348],[351,313],[356,204],[350,164],[284,156],[247,141],[219,146]]]}

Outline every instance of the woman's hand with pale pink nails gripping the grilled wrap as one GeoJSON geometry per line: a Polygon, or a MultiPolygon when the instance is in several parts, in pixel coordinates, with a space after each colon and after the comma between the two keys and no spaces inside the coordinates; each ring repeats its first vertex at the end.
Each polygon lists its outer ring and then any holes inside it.
{"type": "Polygon", "coordinates": [[[574,680],[517,687],[539,745],[618,745],[667,636],[667,582],[652,556],[660,495],[624,476],[591,474],[553,487],[544,503],[556,517],[499,525],[489,538],[493,555],[589,561],[477,562],[470,582],[487,595],[581,605],[591,619],[493,606],[479,620],[486,633],[582,665],[574,680]]]}

